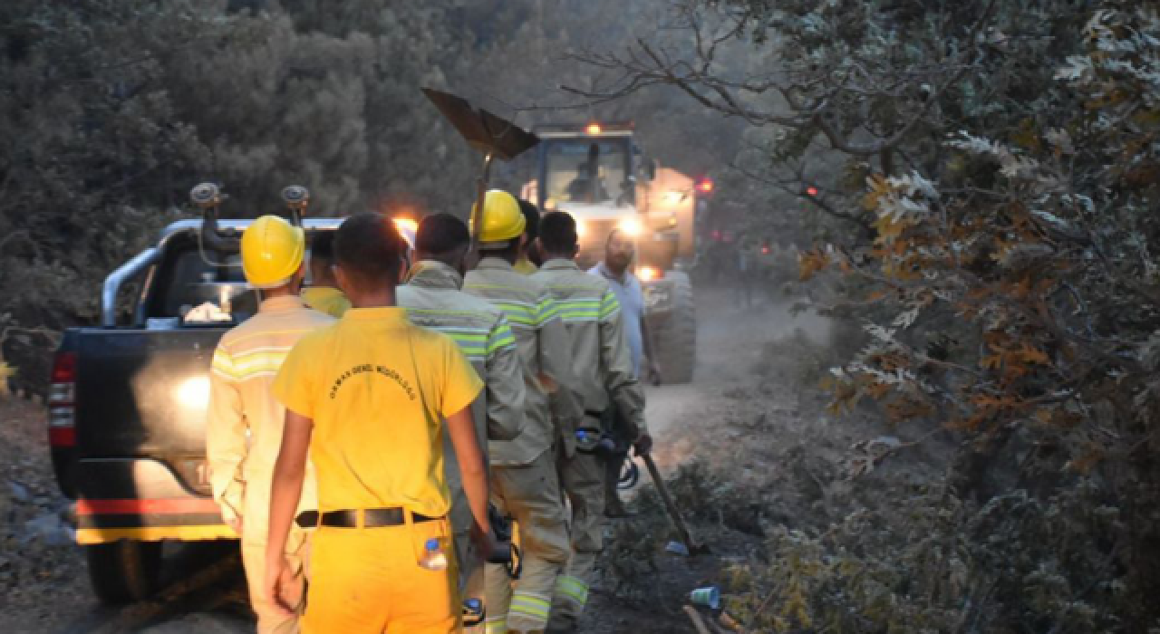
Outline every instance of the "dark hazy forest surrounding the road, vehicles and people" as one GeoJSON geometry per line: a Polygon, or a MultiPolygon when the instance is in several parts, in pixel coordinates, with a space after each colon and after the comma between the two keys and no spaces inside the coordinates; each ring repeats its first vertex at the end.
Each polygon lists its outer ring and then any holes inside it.
{"type": "Polygon", "coordinates": [[[841,325],[829,413],[951,447],[776,533],[732,606],[755,628],[1160,631],[1153,1],[8,0],[0,373],[42,393],[197,182],[239,217],[291,183],[324,216],[465,216],[477,155],[423,86],[527,126],[635,121],[797,249],[770,292],[841,325]]]}

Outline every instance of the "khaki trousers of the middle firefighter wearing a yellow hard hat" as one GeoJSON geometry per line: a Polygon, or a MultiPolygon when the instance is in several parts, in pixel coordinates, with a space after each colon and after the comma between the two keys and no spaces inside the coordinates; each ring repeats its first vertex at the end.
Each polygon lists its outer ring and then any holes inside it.
{"type": "Polygon", "coordinates": [[[513,581],[503,566],[487,564],[487,634],[542,632],[556,577],[568,560],[568,533],[552,452],[530,465],[492,467],[492,503],[515,519],[523,571],[513,581]]]}

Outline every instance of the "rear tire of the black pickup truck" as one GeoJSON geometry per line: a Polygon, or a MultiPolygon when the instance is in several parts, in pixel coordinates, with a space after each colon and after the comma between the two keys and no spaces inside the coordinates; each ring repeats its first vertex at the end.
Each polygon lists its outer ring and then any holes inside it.
{"type": "Polygon", "coordinates": [[[85,547],[93,592],[107,605],[147,599],[161,580],[161,542],[122,539],[85,547]]]}

